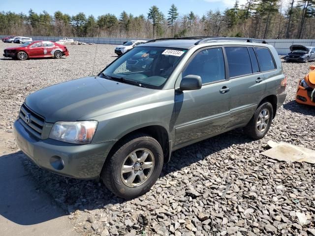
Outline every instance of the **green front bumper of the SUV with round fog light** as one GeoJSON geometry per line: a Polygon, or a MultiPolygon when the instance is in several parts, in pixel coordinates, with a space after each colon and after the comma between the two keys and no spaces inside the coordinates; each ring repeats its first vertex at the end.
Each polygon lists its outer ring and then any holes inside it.
{"type": "Polygon", "coordinates": [[[97,178],[115,140],[75,145],[53,139],[38,140],[20,123],[14,122],[15,140],[20,149],[40,168],[80,179],[97,178]]]}

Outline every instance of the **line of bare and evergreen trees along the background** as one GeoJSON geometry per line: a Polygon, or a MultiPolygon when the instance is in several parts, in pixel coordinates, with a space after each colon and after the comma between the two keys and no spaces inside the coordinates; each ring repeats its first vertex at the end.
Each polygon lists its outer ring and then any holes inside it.
{"type": "Polygon", "coordinates": [[[172,4],[165,14],[152,6],[147,14],[119,17],[107,13],[95,18],[83,12],[70,16],[32,9],[28,14],[0,12],[0,34],[74,37],[156,38],[184,36],[230,36],[253,38],[314,38],[315,0],[236,0],[224,11],[209,10],[198,16],[181,14],[172,4]]]}

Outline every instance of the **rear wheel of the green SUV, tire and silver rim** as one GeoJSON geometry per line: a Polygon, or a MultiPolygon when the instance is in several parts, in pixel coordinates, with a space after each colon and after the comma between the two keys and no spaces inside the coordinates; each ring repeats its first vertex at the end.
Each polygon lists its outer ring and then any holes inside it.
{"type": "Polygon", "coordinates": [[[261,104],[256,109],[250,122],[245,126],[244,132],[254,140],[262,139],[270,128],[273,115],[274,111],[270,102],[261,104]],[[266,115],[268,115],[268,119],[266,115]]]}

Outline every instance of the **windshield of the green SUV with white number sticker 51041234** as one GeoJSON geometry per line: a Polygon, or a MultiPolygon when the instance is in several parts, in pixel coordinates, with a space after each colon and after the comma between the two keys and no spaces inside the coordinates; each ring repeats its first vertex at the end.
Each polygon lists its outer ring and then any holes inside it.
{"type": "Polygon", "coordinates": [[[176,48],[135,47],[102,73],[132,80],[147,88],[161,89],[186,52],[186,49],[176,48]]]}

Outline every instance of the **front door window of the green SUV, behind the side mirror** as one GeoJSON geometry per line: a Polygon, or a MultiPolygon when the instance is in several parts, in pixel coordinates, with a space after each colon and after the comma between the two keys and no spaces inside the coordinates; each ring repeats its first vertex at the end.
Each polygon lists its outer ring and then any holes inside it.
{"type": "Polygon", "coordinates": [[[198,52],[182,73],[182,77],[187,75],[199,75],[202,84],[224,80],[225,66],[222,48],[211,48],[198,52]]]}

